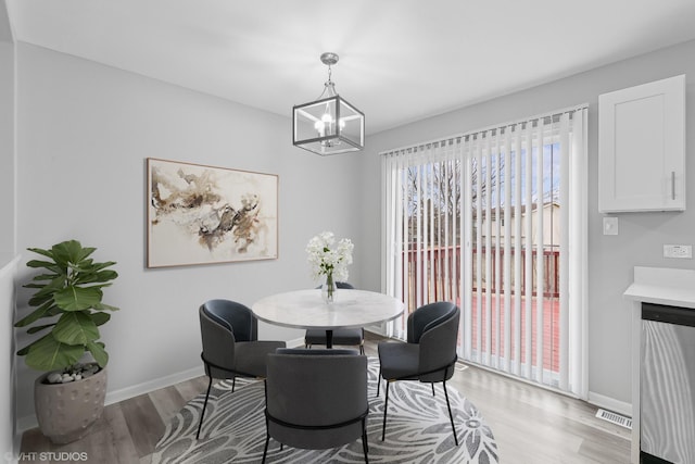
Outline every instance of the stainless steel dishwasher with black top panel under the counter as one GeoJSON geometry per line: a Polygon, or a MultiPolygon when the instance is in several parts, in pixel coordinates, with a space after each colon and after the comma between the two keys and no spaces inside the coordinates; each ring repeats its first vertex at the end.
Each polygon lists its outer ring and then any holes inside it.
{"type": "Polygon", "coordinates": [[[695,310],[642,303],[640,460],[695,464],[695,310]]]}

